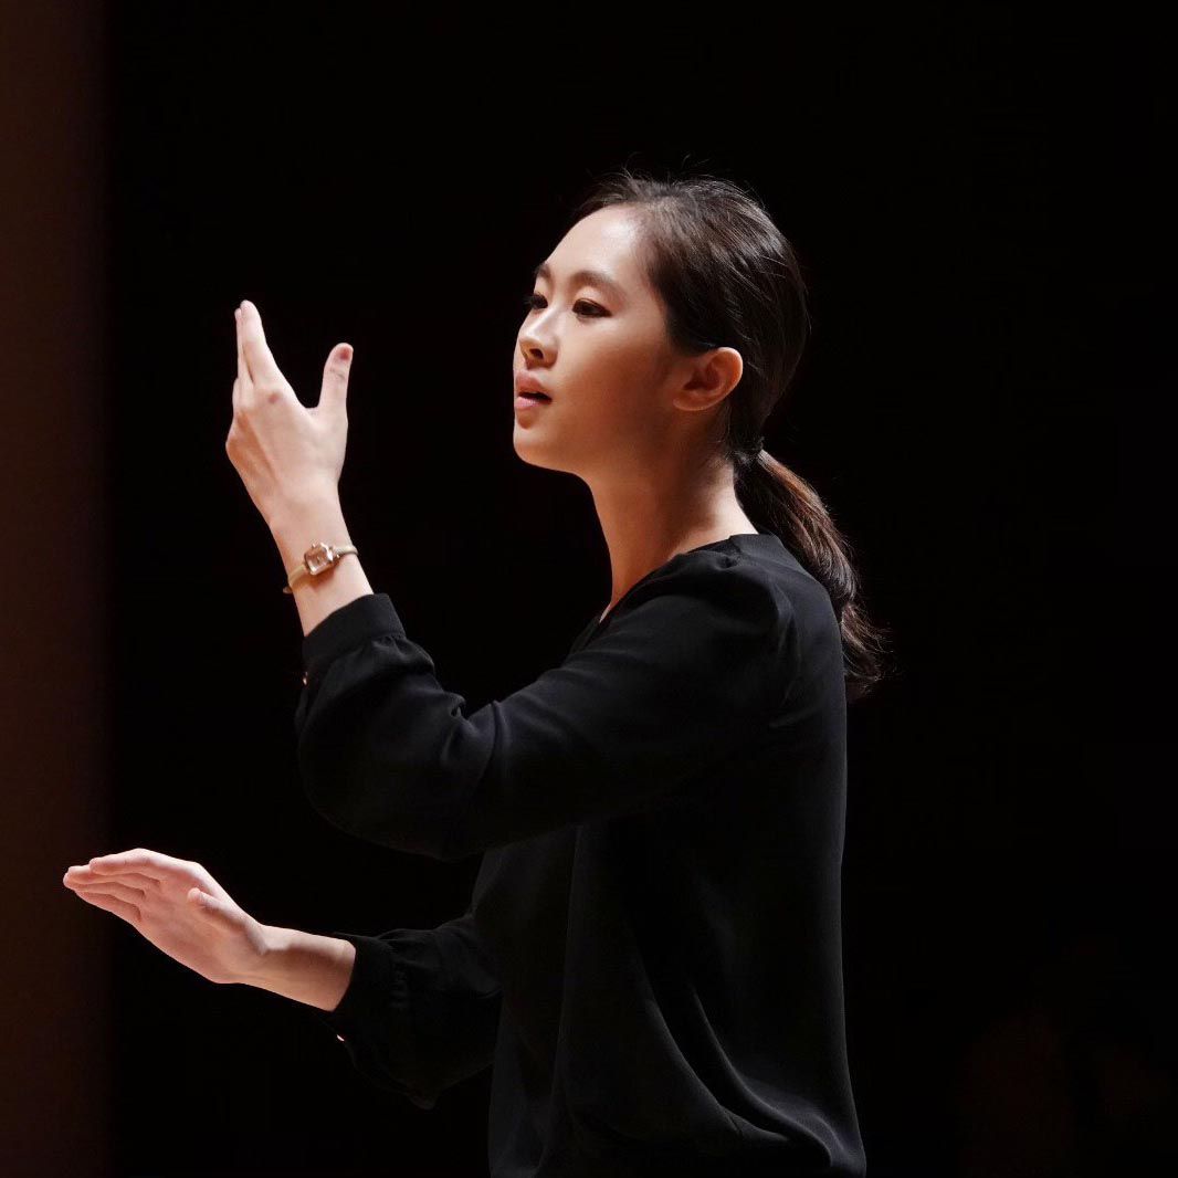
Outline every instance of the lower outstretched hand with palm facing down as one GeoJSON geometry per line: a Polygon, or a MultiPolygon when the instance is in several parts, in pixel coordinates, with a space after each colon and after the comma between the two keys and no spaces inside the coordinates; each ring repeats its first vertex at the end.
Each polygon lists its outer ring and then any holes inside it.
{"type": "Polygon", "coordinates": [[[270,926],[244,912],[200,863],[137,847],[71,867],[61,882],[210,981],[249,984],[269,948],[270,926]]]}

